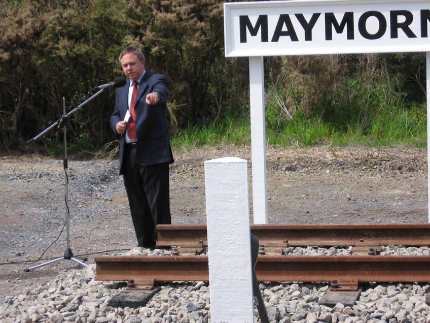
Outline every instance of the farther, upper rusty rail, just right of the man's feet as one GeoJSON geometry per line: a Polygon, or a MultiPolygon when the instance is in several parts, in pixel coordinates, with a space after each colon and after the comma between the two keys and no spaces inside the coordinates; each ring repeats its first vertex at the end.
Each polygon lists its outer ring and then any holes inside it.
{"type": "MultiPolygon", "coordinates": [[[[206,247],[205,224],[159,224],[158,246],[206,247]]],[[[252,224],[260,246],[430,245],[430,223],[252,224]]]]}

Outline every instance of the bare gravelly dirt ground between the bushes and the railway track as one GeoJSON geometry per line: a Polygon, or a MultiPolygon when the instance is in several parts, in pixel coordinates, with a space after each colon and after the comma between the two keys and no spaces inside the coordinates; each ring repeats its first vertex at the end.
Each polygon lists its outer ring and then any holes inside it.
{"type": "MultiPolygon", "coordinates": [[[[170,167],[172,223],[206,221],[204,161],[224,156],[248,160],[252,198],[250,147],[177,153],[170,167]]],[[[62,260],[25,271],[63,256],[66,202],[75,256],[93,264],[94,255],[136,245],[116,159],[69,157],[67,185],[64,174],[61,158],[0,157],[0,300],[81,266],[62,260]]],[[[428,222],[427,151],[268,148],[267,198],[269,223],[428,222]]]]}

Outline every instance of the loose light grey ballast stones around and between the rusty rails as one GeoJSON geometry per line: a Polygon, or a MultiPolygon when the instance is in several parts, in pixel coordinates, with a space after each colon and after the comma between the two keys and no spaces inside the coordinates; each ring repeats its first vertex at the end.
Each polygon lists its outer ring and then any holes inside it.
{"type": "MultiPolygon", "coordinates": [[[[319,248],[318,255],[331,254],[319,248]]],[[[392,255],[406,248],[390,248],[392,255]],[[397,249],[397,250],[395,250],[397,249]]],[[[418,253],[428,247],[417,248],[418,253]]],[[[332,249],[333,250],[333,249],[332,249]]],[[[124,255],[171,254],[135,248],[124,255]]],[[[292,254],[303,253],[303,250],[292,254]]],[[[343,254],[340,252],[340,254],[343,254]]],[[[207,282],[161,284],[145,306],[112,307],[110,300],[120,291],[112,282],[94,280],[95,267],[71,270],[46,285],[29,288],[16,296],[6,296],[0,306],[5,322],[210,322],[207,282]]],[[[125,288],[125,287],[122,287],[125,288]]],[[[260,290],[271,322],[428,322],[430,285],[414,283],[367,284],[352,306],[320,305],[327,283],[261,283],[260,290]]],[[[256,321],[259,321],[255,310],[256,321]]]]}

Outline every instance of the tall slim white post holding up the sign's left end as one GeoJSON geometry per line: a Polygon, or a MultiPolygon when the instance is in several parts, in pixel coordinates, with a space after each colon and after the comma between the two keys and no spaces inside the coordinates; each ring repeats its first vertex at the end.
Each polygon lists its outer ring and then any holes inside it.
{"type": "Polygon", "coordinates": [[[254,223],[267,223],[266,115],[263,56],[249,57],[254,223]]]}

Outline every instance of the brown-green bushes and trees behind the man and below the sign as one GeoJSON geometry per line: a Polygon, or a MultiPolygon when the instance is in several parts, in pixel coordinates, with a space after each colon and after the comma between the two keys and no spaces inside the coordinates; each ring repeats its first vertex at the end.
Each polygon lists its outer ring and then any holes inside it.
{"type": "MultiPolygon", "coordinates": [[[[173,134],[247,111],[248,62],[224,57],[220,0],[0,0],[0,150],[25,150],[62,114],[63,97],[69,111],[122,75],[118,54],[128,45],[144,51],[148,70],[170,78],[173,134]]],[[[280,103],[277,117],[352,117],[392,75],[405,97],[424,100],[423,61],[419,54],[272,57],[266,88],[280,103]]],[[[105,91],[80,109],[68,123],[69,143],[99,148],[114,140],[114,102],[114,91],[105,91]]],[[[57,131],[45,137],[61,141],[57,131]]]]}

